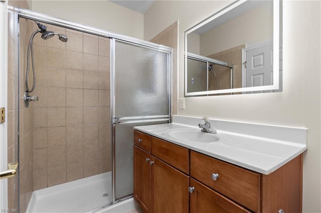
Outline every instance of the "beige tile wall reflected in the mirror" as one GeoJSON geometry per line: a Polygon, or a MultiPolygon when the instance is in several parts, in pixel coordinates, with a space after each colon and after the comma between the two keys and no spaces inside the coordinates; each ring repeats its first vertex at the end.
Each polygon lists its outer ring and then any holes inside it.
{"type": "MultiPolygon", "coordinates": [[[[232,63],[234,65],[233,88],[242,87],[242,48],[245,48],[245,44],[235,46],[233,48],[226,49],[208,56],[210,58],[232,63]]],[[[231,88],[231,69],[229,67],[224,67],[217,64],[213,65],[213,68],[215,69],[218,78],[219,89],[231,88]]],[[[210,79],[213,80],[210,81],[209,89],[217,89],[217,83],[213,72],[210,72],[210,79]]]]}

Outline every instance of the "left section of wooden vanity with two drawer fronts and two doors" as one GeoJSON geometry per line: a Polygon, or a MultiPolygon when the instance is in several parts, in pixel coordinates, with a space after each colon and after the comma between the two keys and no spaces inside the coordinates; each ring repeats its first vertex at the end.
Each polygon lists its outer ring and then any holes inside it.
{"type": "Polygon", "coordinates": [[[134,199],[144,212],[189,212],[189,149],[135,130],[133,161],[134,199]]]}

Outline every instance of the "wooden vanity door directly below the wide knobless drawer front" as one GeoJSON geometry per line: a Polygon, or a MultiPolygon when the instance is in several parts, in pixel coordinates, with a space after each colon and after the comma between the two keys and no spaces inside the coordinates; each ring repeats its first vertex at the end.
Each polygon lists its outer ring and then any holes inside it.
{"type": "Polygon", "coordinates": [[[151,206],[155,213],[189,212],[189,176],[151,156],[151,206]]]}

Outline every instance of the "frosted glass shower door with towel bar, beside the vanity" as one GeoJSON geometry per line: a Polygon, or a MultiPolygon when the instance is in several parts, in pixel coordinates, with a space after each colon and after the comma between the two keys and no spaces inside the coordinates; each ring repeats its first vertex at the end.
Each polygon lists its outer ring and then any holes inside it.
{"type": "Polygon", "coordinates": [[[133,126],[169,122],[169,51],[114,40],[114,198],[133,193],[133,126]]]}

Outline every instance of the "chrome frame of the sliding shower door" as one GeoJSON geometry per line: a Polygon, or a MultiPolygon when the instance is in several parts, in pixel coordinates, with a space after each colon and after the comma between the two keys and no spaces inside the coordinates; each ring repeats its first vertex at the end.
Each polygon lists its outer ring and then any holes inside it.
{"type": "MultiPolygon", "coordinates": [[[[157,120],[168,120],[169,122],[171,121],[171,73],[172,73],[172,63],[171,61],[173,60],[173,56],[172,56],[172,48],[171,47],[168,47],[168,46],[164,46],[164,45],[161,45],[161,44],[155,44],[155,43],[152,43],[152,42],[149,42],[149,41],[144,41],[144,40],[140,40],[138,38],[134,38],[134,37],[130,37],[130,36],[126,36],[126,35],[121,35],[121,34],[118,34],[118,33],[114,33],[114,32],[110,32],[110,31],[107,31],[107,30],[103,30],[103,29],[100,29],[100,28],[96,28],[96,27],[92,27],[92,26],[88,26],[88,25],[84,25],[84,24],[79,24],[79,23],[76,23],[76,22],[73,22],[73,21],[69,21],[69,20],[65,20],[65,19],[62,19],[62,18],[57,18],[57,17],[53,17],[53,16],[50,16],[50,15],[47,15],[47,14],[43,14],[43,13],[40,13],[40,12],[35,12],[35,11],[32,11],[32,10],[29,10],[29,9],[24,9],[24,8],[19,8],[19,7],[13,7],[13,6],[9,6],[8,7],[8,10],[11,11],[11,12],[14,12],[14,15],[15,17],[15,24],[17,24],[17,27],[19,29],[19,18],[22,17],[22,18],[28,18],[28,19],[32,19],[32,20],[36,20],[36,21],[40,21],[40,22],[45,22],[45,23],[48,23],[48,24],[53,24],[53,25],[57,25],[57,26],[60,26],[60,27],[65,27],[65,28],[68,28],[68,29],[73,29],[73,30],[78,30],[78,31],[82,31],[82,32],[85,32],[85,33],[89,33],[89,34],[93,34],[93,35],[97,35],[97,36],[102,36],[102,37],[107,37],[107,38],[110,38],[110,55],[112,55],[112,53],[114,52],[114,49],[115,49],[115,46],[114,46],[114,40],[117,39],[117,40],[120,40],[122,42],[128,42],[128,43],[131,43],[131,44],[135,44],[135,45],[140,45],[140,46],[143,46],[143,47],[147,47],[147,48],[152,48],[152,49],[156,49],[156,50],[159,50],[159,51],[164,51],[164,52],[168,52],[169,53],[169,58],[168,58],[168,61],[169,61],[169,76],[168,76],[168,79],[169,79],[169,82],[168,82],[168,103],[169,103],[169,114],[166,115],[166,117],[163,117],[163,118],[156,118],[157,120]],[[17,22],[17,23],[16,23],[17,22]]],[[[19,30],[18,30],[19,32],[19,30]]],[[[17,34],[17,37],[18,37],[18,34],[17,34]]],[[[19,45],[17,45],[17,52],[18,52],[18,57],[19,57],[19,45]]],[[[113,69],[113,57],[111,56],[110,57],[110,70],[113,69]]],[[[19,66],[18,66],[18,73],[20,72],[19,70],[19,66]]],[[[110,115],[112,117],[113,115],[113,91],[112,90],[112,85],[113,85],[113,79],[112,79],[112,76],[110,77],[110,91],[111,91],[111,94],[110,94],[110,115]]],[[[111,120],[111,123],[113,122],[113,120],[111,120]]],[[[114,130],[114,127],[113,125],[111,125],[111,141],[114,141],[113,139],[113,130],[114,130]]],[[[114,144],[112,144],[112,149],[114,148],[114,144]]],[[[19,149],[19,148],[18,148],[19,149]]],[[[125,198],[129,198],[129,197],[132,197],[132,195],[129,195],[127,197],[124,197],[124,198],[121,198],[121,199],[118,199],[118,200],[115,200],[115,180],[114,180],[114,161],[115,161],[115,158],[114,158],[114,152],[112,151],[112,176],[113,176],[113,180],[112,180],[112,203],[115,203],[115,202],[118,202],[120,200],[123,200],[125,198]]],[[[19,187],[18,187],[19,188],[19,187]]],[[[98,209],[101,209],[107,205],[109,205],[111,203],[106,203],[106,205],[104,206],[99,206],[95,209],[92,209],[88,212],[94,212],[98,209]]]]}

